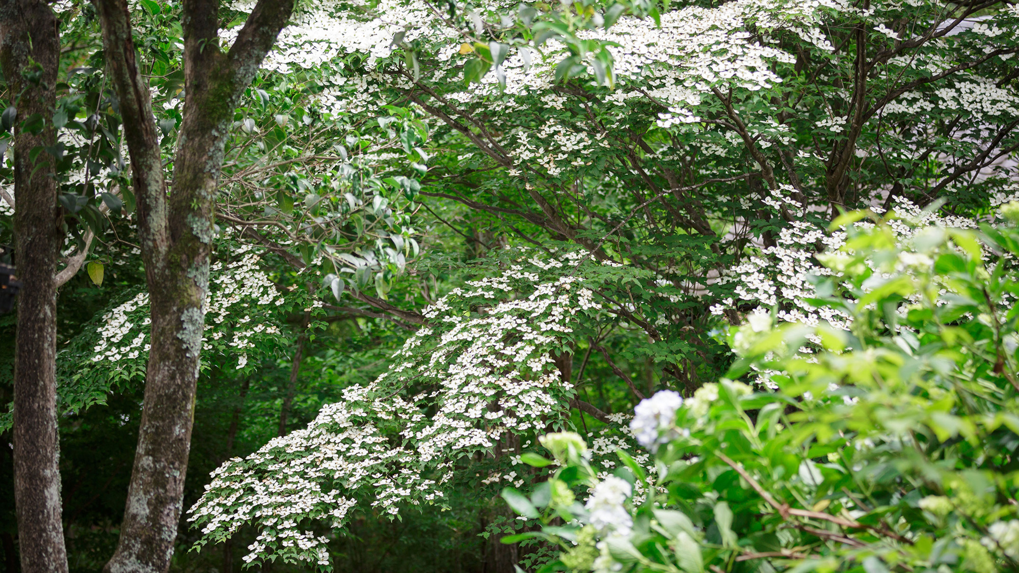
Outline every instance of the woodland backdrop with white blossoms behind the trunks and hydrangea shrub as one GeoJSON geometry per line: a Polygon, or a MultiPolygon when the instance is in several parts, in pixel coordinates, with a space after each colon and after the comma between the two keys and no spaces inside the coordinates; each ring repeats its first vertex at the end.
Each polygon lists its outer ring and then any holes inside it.
{"type": "MultiPolygon", "coordinates": [[[[212,36],[196,47],[184,4],[124,4],[158,128],[150,151],[166,169],[187,150],[185,51],[226,53],[256,11],[212,3],[212,36]]],[[[121,535],[156,296],[103,5],[47,7],[54,105],[17,113],[40,83],[30,70],[5,77],[0,117],[5,245],[16,247],[14,138],[53,138],[28,155],[48,158],[57,185],[71,571],[101,570],[121,535]]],[[[914,227],[1000,221],[1017,197],[1008,2],[292,10],[237,88],[215,195],[195,211],[210,215],[209,274],[182,488],[195,509],[174,571],[531,569],[547,552],[498,542],[529,526],[498,493],[540,480],[523,462],[538,435],[579,431],[610,470],[618,447],[636,450],[636,404],[661,388],[693,396],[729,369],[730,325],[768,309],[845,326],[809,279],[826,272],[814,255],[845,239],[828,230],[840,212],[898,213],[908,241],[914,227]],[[315,456],[346,444],[337,435],[374,446],[325,475],[315,456]],[[280,460],[307,479],[290,481],[280,460]],[[265,501],[231,481],[246,471],[286,493],[265,501]],[[342,497],[320,496],[336,482],[342,497]],[[251,500],[298,508],[284,512],[293,523],[267,522],[251,500]]],[[[0,315],[4,404],[17,327],[0,315]]],[[[0,419],[0,541],[17,571],[11,423],[0,419]]]]}

